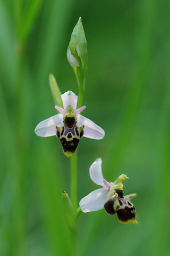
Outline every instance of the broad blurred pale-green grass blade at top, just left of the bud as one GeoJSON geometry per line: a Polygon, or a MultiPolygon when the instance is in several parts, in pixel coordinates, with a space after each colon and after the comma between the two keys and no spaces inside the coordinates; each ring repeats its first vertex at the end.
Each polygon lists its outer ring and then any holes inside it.
{"type": "Polygon", "coordinates": [[[44,86],[49,73],[54,73],[54,67],[55,70],[60,67],[60,51],[63,49],[63,39],[66,36],[73,4],[73,0],[45,2],[46,13],[41,21],[35,62],[41,87],[44,86]]]}

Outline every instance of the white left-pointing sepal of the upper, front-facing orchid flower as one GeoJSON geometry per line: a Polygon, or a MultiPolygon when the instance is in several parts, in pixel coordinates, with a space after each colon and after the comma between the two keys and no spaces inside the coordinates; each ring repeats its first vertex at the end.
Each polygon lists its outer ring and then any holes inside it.
{"type": "Polygon", "coordinates": [[[62,119],[62,114],[45,119],[36,126],[35,133],[40,137],[56,135],[56,125],[63,126],[62,119]]]}

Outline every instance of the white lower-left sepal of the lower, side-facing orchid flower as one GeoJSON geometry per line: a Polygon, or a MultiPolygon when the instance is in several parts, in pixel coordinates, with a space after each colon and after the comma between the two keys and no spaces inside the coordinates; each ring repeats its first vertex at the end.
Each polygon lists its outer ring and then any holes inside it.
{"type": "Polygon", "coordinates": [[[106,201],[107,190],[99,188],[82,198],[79,204],[82,212],[92,212],[103,209],[106,201]]]}

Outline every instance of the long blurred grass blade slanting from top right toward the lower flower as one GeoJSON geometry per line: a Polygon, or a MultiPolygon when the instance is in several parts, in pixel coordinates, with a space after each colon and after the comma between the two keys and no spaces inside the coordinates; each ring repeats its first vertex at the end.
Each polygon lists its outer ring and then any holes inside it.
{"type": "Polygon", "coordinates": [[[138,111],[147,87],[147,78],[151,65],[152,46],[154,44],[154,24],[158,1],[140,1],[138,3],[138,26],[136,44],[138,67],[135,70],[132,86],[128,86],[124,111],[120,126],[111,143],[111,154],[108,154],[109,174],[111,175],[121,162],[128,142],[132,136],[138,111]],[[114,158],[112,157],[114,155],[114,158]]]}

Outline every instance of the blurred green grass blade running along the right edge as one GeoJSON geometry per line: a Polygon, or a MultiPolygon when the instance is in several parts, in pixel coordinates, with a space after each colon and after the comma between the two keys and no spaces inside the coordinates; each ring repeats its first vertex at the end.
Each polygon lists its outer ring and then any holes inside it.
{"type": "MultiPolygon", "coordinates": [[[[170,34],[169,34],[170,35],[170,34]]],[[[169,43],[166,45],[168,52],[168,74],[165,80],[164,100],[162,115],[159,119],[159,130],[156,138],[157,155],[155,160],[155,171],[157,182],[155,183],[155,194],[152,199],[153,205],[159,205],[157,213],[153,216],[154,240],[152,241],[150,255],[168,255],[169,245],[169,199],[170,199],[170,51],[169,43]],[[159,202],[159,203],[158,203],[159,202]],[[157,246],[155,246],[157,245],[157,246]]],[[[155,206],[156,207],[156,206],[155,206]]]]}

